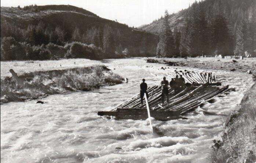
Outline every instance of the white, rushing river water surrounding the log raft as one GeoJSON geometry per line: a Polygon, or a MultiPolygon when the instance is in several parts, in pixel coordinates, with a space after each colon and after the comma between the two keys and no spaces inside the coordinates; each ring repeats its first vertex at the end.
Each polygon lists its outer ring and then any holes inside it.
{"type": "Polygon", "coordinates": [[[45,104],[32,100],[1,105],[1,162],[209,162],[212,140],[219,138],[226,116],[252,85],[245,73],[213,70],[218,81],[236,91],[186,114],[188,119],[153,121],[158,131],[151,133],[147,121],[116,121],[98,116],[97,111],[108,111],[139,93],[142,78],[148,86],[160,84],[164,75],[170,80],[174,67],[161,70],[167,66],[146,63],[143,58],[105,60],[104,64],[127,77],[128,84],[51,95],[43,99],[45,104]]]}

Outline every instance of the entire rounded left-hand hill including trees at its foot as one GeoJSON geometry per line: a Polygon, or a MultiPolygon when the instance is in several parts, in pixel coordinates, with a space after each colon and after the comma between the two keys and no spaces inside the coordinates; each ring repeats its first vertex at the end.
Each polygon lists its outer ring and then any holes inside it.
{"type": "Polygon", "coordinates": [[[153,56],[157,42],[71,5],[1,7],[1,60],[153,56]]]}

